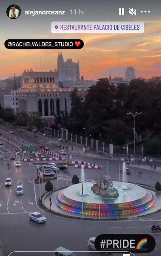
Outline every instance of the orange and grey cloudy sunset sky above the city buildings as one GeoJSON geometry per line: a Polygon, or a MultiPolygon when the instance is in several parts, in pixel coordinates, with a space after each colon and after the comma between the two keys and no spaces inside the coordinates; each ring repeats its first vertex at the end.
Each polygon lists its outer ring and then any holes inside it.
{"type": "MultiPolygon", "coordinates": [[[[9,2],[9,4],[11,3],[9,2]]],[[[17,1],[16,4],[22,6],[21,1],[17,1]]],[[[8,5],[4,6],[4,10],[8,5]]],[[[62,8],[51,8],[51,6],[47,8],[46,5],[41,6],[41,8],[37,8],[36,5],[32,8],[26,5],[21,10],[33,10],[34,8],[35,10],[62,10],[62,8]]],[[[49,71],[57,68],[58,50],[6,49],[4,41],[14,38],[82,39],[85,44],[83,49],[62,50],[62,52],[64,60],[72,58],[73,61],[80,61],[80,75],[83,75],[84,79],[98,79],[109,76],[110,71],[112,77],[124,77],[128,66],[134,67],[137,77],[161,76],[161,20],[156,15],[151,15],[149,19],[148,16],[146,16],[146,19],[144,16],[145,32],[143,34],[63,34],[62,36],[50,32],[51,21],[54,21],[53,17],[50,17],[50,19],[48,17],[48,20],[45,17],[44,25],[44,17],[43,19],[42,17],[31,17],[30,19],[29,17],[23,17],[22,13],[19,19],[10,20],[6,13],[3,13],[3,15],[7,29],[1,36],[0,42],[0,79],[13,76],[14,73],[17,76],[21,75],[24,69],[33,68],[34,71],[49,71]]],[[[59,17],[59,20],[63,19],[59,17]]],[[[66,20],[69,20],[69,17],[66,20]]],[[[85,20],[87,21],[87,19],[85,20]]],[[[90,20],[93,21],[94,19],[90,20]]],[[[101,19],[99,20],[101,21],[101,19]]],[[[119,21],[118,18],[114,20],[119,21]]],[[[129,18],[128,20],[130,21],[129,18]]],[[[137,20],[141,19],[137,18],[137,20]]]]}

